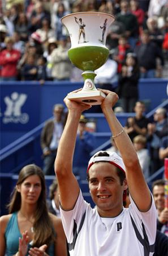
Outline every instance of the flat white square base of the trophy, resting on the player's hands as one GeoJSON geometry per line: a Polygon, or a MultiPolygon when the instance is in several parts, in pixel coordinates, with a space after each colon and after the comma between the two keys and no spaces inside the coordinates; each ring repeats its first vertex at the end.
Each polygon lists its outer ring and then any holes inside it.
{"type": "Polygon", "coordinates": [[[68,100],[77,101],[87,105],[101,105],[106,95],[101,90],[84,91],[81,90],[77,93],[68,93],[68,100]]]}

